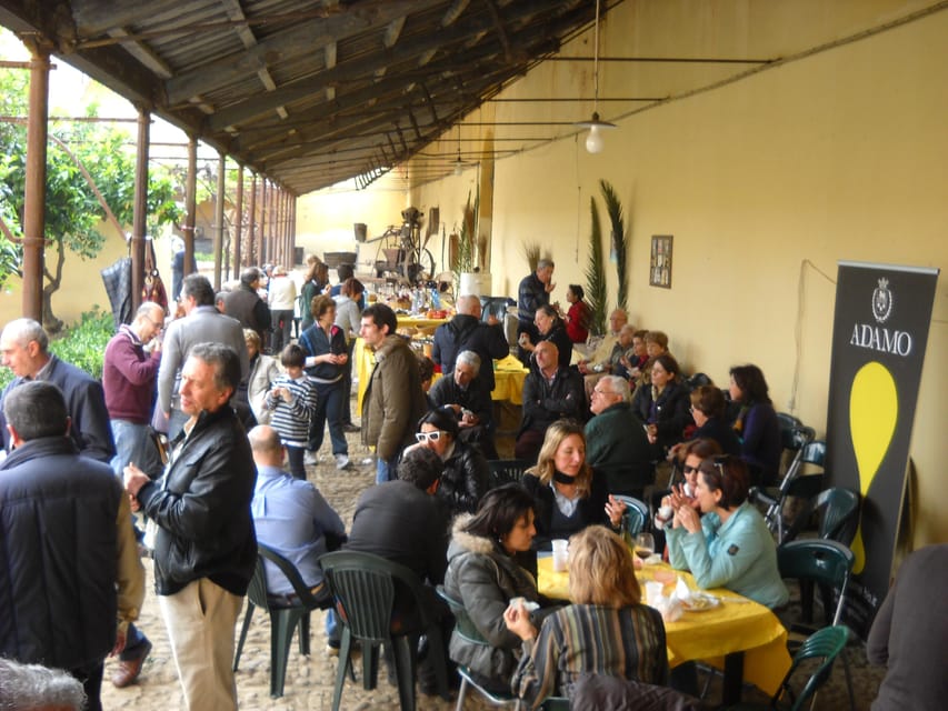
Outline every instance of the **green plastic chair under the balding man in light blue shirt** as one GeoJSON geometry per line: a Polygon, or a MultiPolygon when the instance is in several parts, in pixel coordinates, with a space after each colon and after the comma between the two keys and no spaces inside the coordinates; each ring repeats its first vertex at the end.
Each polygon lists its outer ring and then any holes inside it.
{"type": "Polygon", "coordinates": [[[266,610],[270,614],[270,697],[278,699],[283,695],[283,684],[287,679],[287,661],[290,657],[290,642],[293,632],[299,624],[300,654],[309,655],[309,614],[312,610],[328,609],[331,600],[317,600],[309,585],[307,585],[296,565],[280,555],[272,548],[263,543],[257,543],[257,568],[250,585],[247,589],[247,613],[243,615],[243,627],[240,630],[240,640],[237,643],[237,653],[233,658],[233,671],[240,663],[240,654],[243,651],[243,642],[247,631],[250,629],[250,618],[253,608],[266,610]],[[297,595],[296,604],[277,601],[267,594],[267,572],[263,560],[271,561],[282,572],[297,595]]]}

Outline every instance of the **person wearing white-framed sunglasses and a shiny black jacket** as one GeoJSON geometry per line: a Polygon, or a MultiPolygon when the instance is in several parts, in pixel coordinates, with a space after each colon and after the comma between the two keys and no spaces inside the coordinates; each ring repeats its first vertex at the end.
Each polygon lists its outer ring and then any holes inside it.
{"type": "Polygon", "coordinates": [[[433,450],[445,462],[438,498],[451,515],[473,513],[490,489],[490,468],[475,444],[458,440],[458,420],[448,410],[431,410],[418,421],[418,444],[433,450]]]}

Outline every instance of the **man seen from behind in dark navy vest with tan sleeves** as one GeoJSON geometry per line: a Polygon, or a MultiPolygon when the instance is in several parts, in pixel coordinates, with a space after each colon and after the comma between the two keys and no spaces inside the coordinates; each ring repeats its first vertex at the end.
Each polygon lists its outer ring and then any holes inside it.
{"type": "Polygon", "coordinates": [[[66,669],[101,709],[104,659],[144,599],[129,500],[108,464],[76,450],[54,383],[14,388],[3,414],[0,657],[66,669]]]}

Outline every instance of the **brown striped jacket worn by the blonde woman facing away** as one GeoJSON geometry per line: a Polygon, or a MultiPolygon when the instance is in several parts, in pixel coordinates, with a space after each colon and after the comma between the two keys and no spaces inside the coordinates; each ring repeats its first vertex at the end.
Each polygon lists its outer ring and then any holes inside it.
{"type": "Polygon", "coordinates": [[[537,707],[547,697],[569,695],[583,673],[667,683],[668,651],[658,611],[643,604],[560,608],[543,620],[532,649],[523,643],[511,688],[537,707]]]}

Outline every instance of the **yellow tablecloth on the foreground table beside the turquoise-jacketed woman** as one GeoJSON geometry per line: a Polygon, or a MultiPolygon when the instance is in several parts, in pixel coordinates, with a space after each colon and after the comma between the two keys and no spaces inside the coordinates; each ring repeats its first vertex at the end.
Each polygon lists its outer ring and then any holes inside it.
{"type": "MultiPolygon", "coordinates": [[[[552,558],[537,561],[540,592],[558,600],[569,599],[569,573],[555,573],[552,558]]],[[[656,570],[671,570],[666,564],[646,565],[638,574],[639,582],[651,580],[656,570]]],[[[692,589],[690,573],[677,571],[692,589]]],[[[667,590],[668,591],[668,590],[667,590]]],[[[742,602],[722,602],[705,612],[686,612],[677,622],[665,623],[668,663],[671,667],[692,660],[703,660],[724,667],[724,657],[744,652],[744,678],[767,693],[775,693],[790,669],[787,651],[787,630],[770,610],[730,590],[710,590],[711,594],[742,602]]]]}

